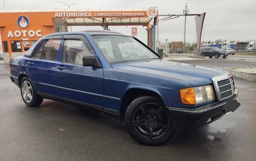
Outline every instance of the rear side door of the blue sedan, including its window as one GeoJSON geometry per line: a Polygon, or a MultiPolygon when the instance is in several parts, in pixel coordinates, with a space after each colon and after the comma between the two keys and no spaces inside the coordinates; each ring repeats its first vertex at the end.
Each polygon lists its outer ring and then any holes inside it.
{"type": "Polygon", "coordinates": [[[26,70],[30,73],[38,92],[57,95],[56,59],[60,44],[60,36],[45,39],[25,61],[26,70]]]}

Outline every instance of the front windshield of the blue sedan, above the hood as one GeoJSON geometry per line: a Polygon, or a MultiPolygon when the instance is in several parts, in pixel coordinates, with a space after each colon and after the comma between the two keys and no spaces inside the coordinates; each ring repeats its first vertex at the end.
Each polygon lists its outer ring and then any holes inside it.
{"type": "Polygon", "coordinates": [[[159,58],[143,44],[128,36],[94,35],[93,38],[110,64],[159,58]]]}

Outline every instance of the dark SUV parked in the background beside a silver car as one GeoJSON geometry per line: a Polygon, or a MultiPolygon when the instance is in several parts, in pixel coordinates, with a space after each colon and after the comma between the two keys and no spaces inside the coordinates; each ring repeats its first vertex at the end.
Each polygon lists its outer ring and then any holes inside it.
{"type": "Polygon", "coordinates": [[[212,58],[212,57],[215,57],[215,58],[219,58],[219,57],[226,58],[228,56],[228,54],[225,53],[220,48],[208,47],[208,48],[203,48],[202,49],[201,56],[202,57],[209,57],[209,58],[212,58]]]}

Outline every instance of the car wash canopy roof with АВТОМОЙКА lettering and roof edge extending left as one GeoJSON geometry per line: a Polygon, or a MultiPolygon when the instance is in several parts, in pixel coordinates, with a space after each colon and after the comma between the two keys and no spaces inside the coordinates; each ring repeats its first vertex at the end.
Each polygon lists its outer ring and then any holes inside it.
{"type": "Polygon", "coordinates": [[[71,26],[80,25],[143,25],[149,21],[147,10],[122,8],[66,8],[66,9],[31,9],[31,10],[0,10],[0,13],[53,12],[53,18],[59,18],[71,26]],[[80,14],[79,14],[80,13],[80,14]],[[56,15],[57,14],[57,15],[56,15]],[[88,15],[86,15],[88,14],[88,15]],[[102,19],[104,18],[104,19],[102,19]]]}

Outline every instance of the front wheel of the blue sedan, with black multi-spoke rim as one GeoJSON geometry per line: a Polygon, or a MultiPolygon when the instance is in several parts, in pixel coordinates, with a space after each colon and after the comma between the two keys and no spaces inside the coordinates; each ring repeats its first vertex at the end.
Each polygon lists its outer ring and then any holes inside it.
{"type": "Polygon", "coordinates": [[[161,145],[175,135],[170,113],[153,96],[140,96],[130,103],[125,125],[132,138],[144,145],[161,145]]]}

